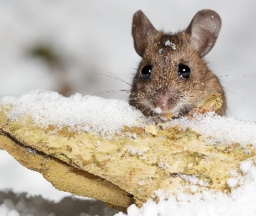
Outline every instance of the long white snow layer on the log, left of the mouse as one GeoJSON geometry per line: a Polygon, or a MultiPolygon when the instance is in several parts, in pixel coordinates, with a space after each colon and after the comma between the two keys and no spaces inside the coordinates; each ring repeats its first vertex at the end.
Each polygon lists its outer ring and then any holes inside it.
{"type": "Polygon", "coordinates": [[[47,128],[69,127],[72,130],[114,134],[123,126],[132,127],[146,118],[121,99],[83,96],[65,98],[57,92],[36,90],[23,95],[0,97],[0,105],[9,107],[10,120],[30,115],[35,124],[47,128]]]}

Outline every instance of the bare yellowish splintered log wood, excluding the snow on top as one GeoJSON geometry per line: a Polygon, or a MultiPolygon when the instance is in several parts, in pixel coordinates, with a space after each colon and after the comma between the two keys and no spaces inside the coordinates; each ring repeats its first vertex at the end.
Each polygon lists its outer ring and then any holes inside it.
{"type": "MultiPolygon", "coordinates": [[[[220,99],[211,96],[195,109],[216,111],[220,99]]],[[[141,206],[157,189],[175,193],[191,185],[192,177],[197,179],[198,193],[205,188],[229,193],[230,172],[240,173],[240,162],[254,156],[250,146],[209,145],[190,129],[147,125],[125,128],[124,135],[107,139],[87,132],[45,130],[33,124],[30,116],[25,122],[9,121],[3,110],[0,149],[40,172],[57,189],[121,210],[133,203],[141,206]]],[[[186,193],[191,192],[186,189],[186,193]]]]}

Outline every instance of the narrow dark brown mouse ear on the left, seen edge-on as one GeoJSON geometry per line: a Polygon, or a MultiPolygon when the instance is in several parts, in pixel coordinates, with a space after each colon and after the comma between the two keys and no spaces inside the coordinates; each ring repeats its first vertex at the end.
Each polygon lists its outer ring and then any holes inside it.
{"type": "Polygon", "coordinates": [[[147,45],[148,37],[157,33],[148,17],[138,10],[133,18],[132,35],[134,37],[135,50],[137,54],[143,55],[147,45]]]}

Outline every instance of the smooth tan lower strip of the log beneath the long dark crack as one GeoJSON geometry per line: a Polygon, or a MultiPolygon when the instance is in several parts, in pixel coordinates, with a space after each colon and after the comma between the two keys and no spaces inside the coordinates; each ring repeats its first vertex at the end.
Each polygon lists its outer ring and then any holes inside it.
{"type": "Polygon", "coordinates": [[[47,181],[59,190],[102,200],[113,206],[119,206],[121,210],[133,203],[130,194],[111,182],[72,167],[55,157],[43,154],[43,152],[30,149],[3,134],[0,135],[0,149],[8,151],[24,167],[41,173],[47,181]]]}

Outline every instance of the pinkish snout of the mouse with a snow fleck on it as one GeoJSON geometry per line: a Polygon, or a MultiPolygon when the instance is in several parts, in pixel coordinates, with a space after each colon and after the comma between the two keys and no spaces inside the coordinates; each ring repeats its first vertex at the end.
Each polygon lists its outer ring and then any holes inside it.
{"type": "Polygon", "coordinates": [[[161,111],[169,111],[176,102],[176,94],[167,92],[165,94],[156,94],[154,97],[155,108],[160,108],[161,111]]]}

